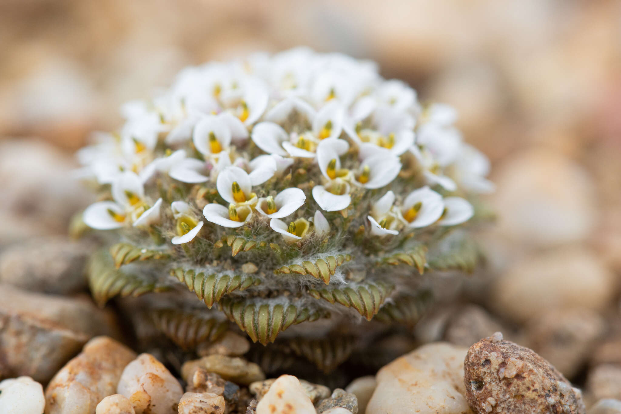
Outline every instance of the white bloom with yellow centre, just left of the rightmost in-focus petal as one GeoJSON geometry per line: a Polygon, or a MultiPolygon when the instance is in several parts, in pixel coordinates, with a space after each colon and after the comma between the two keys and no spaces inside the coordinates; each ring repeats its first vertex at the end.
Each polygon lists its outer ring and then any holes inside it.
{"type": "Polygon", "coordinates": [[[427,227],[442,216],[445,204],[442,196],[429,187],[421,187],[408,194],[401,206],[401,219],[407,227],[427,227]]]}

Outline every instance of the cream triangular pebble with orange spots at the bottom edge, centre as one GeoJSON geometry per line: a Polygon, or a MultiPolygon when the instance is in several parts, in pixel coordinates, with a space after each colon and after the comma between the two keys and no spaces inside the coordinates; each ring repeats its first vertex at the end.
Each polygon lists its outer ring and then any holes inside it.
{"type": "Polygon", "coordinates": [[[256,405],[256,414],[316,414],[311,398],[296,377],[283,375],[256,405]]]}

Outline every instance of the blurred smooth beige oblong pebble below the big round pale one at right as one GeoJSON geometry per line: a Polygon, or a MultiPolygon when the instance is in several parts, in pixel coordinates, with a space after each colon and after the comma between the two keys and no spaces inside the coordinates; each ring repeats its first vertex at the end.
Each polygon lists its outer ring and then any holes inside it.
{"type": "Polygon", "coordinates": [[[548,309],[604,309],[615,295],[615,277],[584,246],[565,246],[528,256],[494,280],[489,300],[501,315],[518,322],[548,309]]]}

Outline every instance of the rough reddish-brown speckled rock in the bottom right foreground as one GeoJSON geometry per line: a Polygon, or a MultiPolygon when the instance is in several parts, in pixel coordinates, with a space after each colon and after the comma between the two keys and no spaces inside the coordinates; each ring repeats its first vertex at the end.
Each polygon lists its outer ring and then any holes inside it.
{"type": "Polygon", "coordinates": [[[471,346],[464,364],[466,398],[479,414],[586,413],[580,390],[563,374],[499,332],[471,346]]]}

